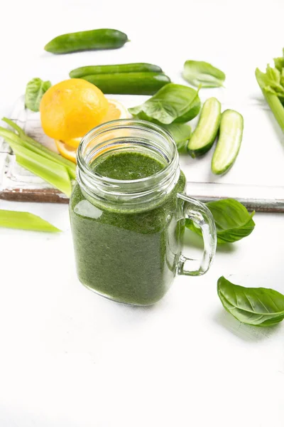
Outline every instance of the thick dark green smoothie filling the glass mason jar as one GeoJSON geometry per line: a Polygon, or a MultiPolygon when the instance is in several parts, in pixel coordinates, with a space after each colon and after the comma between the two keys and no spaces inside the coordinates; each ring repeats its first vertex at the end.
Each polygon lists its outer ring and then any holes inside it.
{"type": "MultiPolygon", "coordinates": [[[[97,174],[133,180],[165,167],[138,152],[109,154],[94,161],[97,174]]],[[[70,199],[70,219],[80,281],[101,295],[133,305],[151,305],[167,292],[180,257],[184,221],[177,221],[177,193],[185,176],[158,206],[148,211],[109,211],[87,200],[78,184],[70,199]]]]}

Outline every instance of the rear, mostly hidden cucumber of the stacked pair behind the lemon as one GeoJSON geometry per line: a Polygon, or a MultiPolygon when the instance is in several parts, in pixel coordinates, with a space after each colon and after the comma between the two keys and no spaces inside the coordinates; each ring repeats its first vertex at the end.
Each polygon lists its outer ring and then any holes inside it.
{"type": "Polygon", "coordinates": [[[84,75],[91,74],[111,74],[111,73],[163,73],[158,65],[148,63],[131,63],[116,65],[87,65],[85,67],[75,68],[70,71],[70,78],[81,78],[84,75]]]}

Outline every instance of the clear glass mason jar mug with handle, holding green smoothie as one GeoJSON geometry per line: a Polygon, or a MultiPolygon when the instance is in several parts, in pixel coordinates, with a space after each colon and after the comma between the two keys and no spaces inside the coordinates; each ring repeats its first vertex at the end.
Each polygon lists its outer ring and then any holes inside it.
{"type": "Polygon", "coordinates": [[[165,295],[177,274],[202,275],[216,251],[209,209],[185,195],[185,175],[168,132],[141,120],[114,120],[82,139],[70,221],[81,283],[117,302],[151,305],[165,295]],[[163,164],[141,179],[112,179],[94,170],[110,154],[139,153],[163,164]],[[202,230],[204,253],[182,254],[185,219],[202,230]]]}

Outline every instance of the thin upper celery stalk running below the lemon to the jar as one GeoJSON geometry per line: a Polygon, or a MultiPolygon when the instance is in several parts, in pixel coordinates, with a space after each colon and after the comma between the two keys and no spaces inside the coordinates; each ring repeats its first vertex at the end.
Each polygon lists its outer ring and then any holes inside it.
{"type": "Polygon", "coordinates": [[[73,162],[70,162],[70,160],[65,159],[64,157],[60,156],[60,154],[51,151],[43,144],[40,144],[40,142],[35,141],[35,139],[26,135],[26,133],[23,132],[23,129],[16,125],[16,123],[14,123],[12,120],[7,119],[6,117],[4,117],[2,120],[6,122],[7,125],[11,126],[13,130],[16,131],[16,134],[11,130],[0,126],[1,137],[4,137],[4,139],[9,138],[12,142],[14,141],[18,144],[21,144],[23,147],[31,149],[31,151],[40,154],[46,159],[50,159],[55,163],[65,166],[68,174],[70,175],[70,178],[76,179],[76,165],[73,162]]]}

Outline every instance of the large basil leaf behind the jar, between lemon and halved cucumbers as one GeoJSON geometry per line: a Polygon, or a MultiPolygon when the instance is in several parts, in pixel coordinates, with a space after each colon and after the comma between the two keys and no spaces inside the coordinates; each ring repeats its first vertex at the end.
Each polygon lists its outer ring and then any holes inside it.
{"type": "Polygon", "coordinates": [[[134,117],[163,125],[185,123],[200,112],[198,90],[169,83],[149,100],[129,108],[134,117]]]}

